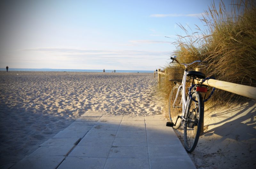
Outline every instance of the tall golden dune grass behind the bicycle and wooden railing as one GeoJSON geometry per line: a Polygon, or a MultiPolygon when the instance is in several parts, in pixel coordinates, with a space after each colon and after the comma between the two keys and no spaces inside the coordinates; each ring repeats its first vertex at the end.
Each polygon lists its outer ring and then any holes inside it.
{"type": "MultiPolygon", "coordinates": [[[[178,56],[180,62],[208,61],[208,77],[256,87],[256,1],[233,1],[228,7],[223,2],[218,5],[213,2],[201,21],[205,27],[197,26],[194,33],[179,25],[187,36],[177,36],[174,42],[177,50],[173,55],[178,56]]],[[[167,77],[159,89],[166,103],[172,85],[167,77]]],[[[217,89],[206,104],[223,106],[247,100],[217,89]]]]}

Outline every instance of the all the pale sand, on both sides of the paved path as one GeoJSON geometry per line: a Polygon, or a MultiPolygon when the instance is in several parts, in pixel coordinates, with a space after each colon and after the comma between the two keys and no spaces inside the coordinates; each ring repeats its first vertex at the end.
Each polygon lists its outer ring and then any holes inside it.
{"type": "MultiPolygon", "coordinates": [[[[0,167],[35,151],[88,111],[166,114],[153,73],[0,71],[0,167]]],[[[197,168],[256,168],[256,103],[205,110],[197,168]]],[[[182,141],[183,129],[177,130],[182,141]]]]}

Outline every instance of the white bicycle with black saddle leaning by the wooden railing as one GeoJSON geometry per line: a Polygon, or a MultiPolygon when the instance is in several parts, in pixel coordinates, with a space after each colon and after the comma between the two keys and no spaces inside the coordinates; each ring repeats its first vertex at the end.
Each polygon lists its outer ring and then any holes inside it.
{"type": "Polygon", "coordinates": [[[184,128],[185,149],[188,152],[192,152],[196,148],[202,128],[204,119],[204,101],[210,99],[215,88],[213,88],[210,96],[203,100],[201,92],[206,93],[208,87],[201,84],[195,84],[195,80],[205,79],[204,73],[199,71],[188,71],[188,66],[203,61],[194,61],[186,64],[180,63],[176,58],[176,56],[171,57],[172,62],[176,61],[178,64],[184,65],[185,70],[182,81],[178,79],[174,80],[175,86],[170,93],[168,105],[170,122],[167,122],[166,126],[178,129],[182,124],[184,128]],[[188,93],[186,94],[187,77],[190,78],[191,83],[188,88],[188,93]]]}

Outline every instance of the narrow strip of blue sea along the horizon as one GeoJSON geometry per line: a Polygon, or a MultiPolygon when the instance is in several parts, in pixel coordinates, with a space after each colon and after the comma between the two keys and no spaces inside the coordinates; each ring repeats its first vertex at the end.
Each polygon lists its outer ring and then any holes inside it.
{"type": "MultiPolygon", "coordinates": [[[[6,71],[5,68],[0,68],[0,71],[6,71]]],[[[103,70],[91,69],[21,69],[9,68],[8,71],[67,71],[67,72],[103,72],[103,70]]],[[[105,70],[105,72],[114,72],[114,70],[105,70]]],[[[116,70],[116,73],[154,73],[154,70],[116,70]]]]}

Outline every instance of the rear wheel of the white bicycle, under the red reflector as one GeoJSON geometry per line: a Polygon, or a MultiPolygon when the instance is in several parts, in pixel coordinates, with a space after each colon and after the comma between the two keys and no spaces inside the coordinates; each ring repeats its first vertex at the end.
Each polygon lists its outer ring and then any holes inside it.
{"type": "Polygon", "coordinates": [[[184,143],[188,152],[196,148],[204,119],[204,102],[201,94],[194,92],[192,98],[197,102],[189,99],[188,111],[185,115],[187,121],[184,122],[184,143]]]}

